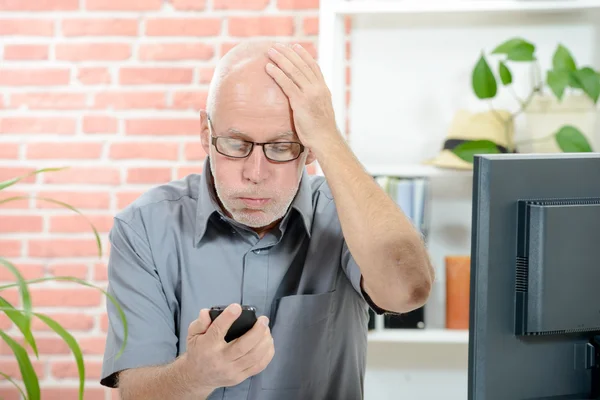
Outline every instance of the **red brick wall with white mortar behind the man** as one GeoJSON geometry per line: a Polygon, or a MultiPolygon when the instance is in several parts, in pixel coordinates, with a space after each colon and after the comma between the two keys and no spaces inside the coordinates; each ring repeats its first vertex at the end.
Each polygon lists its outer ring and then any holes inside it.
{"type": "MultiPolygon", "coordinates": [[[[278,36],[316,55],[318,0],[0,0],[0,181],[40,167],[0,198],[32,194],[81,209],[101,232],[150,186],[199,172],[197,111],[216,61],[238,41],[278,36]]],[[[27,278],[72,275],[106,285],[85,220],[41,201],[0,205],[0,256],[27,278]]],[[[0,281],[9,281],[0,272],[0,281]]],[[[14,291],[1,293],[16,301],[14,291]]],[[[32,286],[40,312],[76,335],[86,400],[110,399],[98,379],[107,320],[94,289],[32,286]]],[[[2,316],[3,317],[3,316],[2,316]]],[[[6,318],[0,328],[16,333],[6,318]]],[[[38,322],[34,360],[44,400],[76,398],[68,348],[38,322]]],[[[18,336],[18,335],[15,335],[18,336]]],[[[18,376],[6,345],[0,371],[18,376]]],[[[0,397],[17,398],[0,384],[0,397]]]]}

